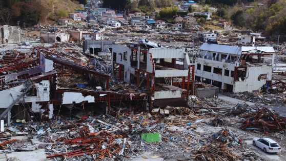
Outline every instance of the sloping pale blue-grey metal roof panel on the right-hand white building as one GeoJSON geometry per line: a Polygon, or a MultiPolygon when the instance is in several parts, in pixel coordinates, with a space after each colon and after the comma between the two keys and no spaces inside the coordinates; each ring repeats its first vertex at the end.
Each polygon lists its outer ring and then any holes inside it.
{"type": "Polygon", "coordinates": [[[238,47],[238,46],[228,46],[228,45],[204,43],[204,44],[202,44],[202,46],[199,49],[200,50],[212,51],[212,52],[236,54],[236,55],[240,55],[241,54],[241,47],[238,47]]]}

